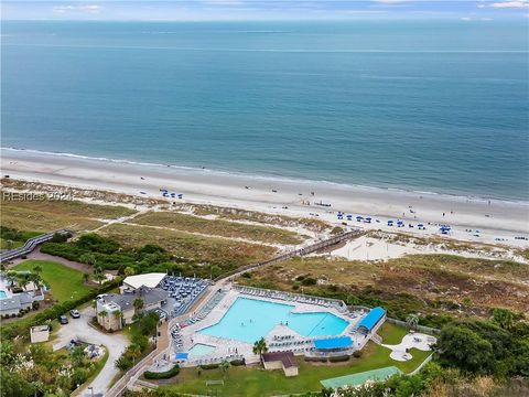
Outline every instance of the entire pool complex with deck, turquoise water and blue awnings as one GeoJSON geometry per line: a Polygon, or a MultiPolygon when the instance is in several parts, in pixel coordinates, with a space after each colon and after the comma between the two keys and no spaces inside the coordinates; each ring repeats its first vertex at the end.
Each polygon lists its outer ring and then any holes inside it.
{"type": "Polygon", "coordinates": [[[313,358],[352,355],[385,319],[382,308],[350,311],[339,300],[230,286],[210,294],[187,320],[171,324],[171,357],[180,357],[183,366],[259,363],[253,344],[264,339],[267,353],[272,354],[267,366],[281,366],[294,376],[296,368],[281,353],[313,358]]]}

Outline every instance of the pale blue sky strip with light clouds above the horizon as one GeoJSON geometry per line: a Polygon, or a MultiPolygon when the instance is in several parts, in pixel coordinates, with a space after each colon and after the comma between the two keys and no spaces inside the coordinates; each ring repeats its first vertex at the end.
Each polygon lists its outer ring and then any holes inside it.
{"type": "Polygon", "coordinates": [[[4,0],[2,19],[29,20],[347,20],[526,19],[529,0],[4,0]]]}

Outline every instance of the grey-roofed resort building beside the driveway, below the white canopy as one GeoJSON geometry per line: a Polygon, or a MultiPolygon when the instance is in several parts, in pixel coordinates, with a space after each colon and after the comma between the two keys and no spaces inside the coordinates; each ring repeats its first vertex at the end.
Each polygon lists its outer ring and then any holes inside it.
{"type": "Polygon", "coordinates": [[[97,322],[105,330],[117,331],[123,325],[131,324],[134,313],[160,309],[168,301],[168,292],[161,288],[139,287],[125,293],[106,293],[96,300],[97,322]],[[134,301],[141,300],[141,309],[137,309],[134,301]]]}

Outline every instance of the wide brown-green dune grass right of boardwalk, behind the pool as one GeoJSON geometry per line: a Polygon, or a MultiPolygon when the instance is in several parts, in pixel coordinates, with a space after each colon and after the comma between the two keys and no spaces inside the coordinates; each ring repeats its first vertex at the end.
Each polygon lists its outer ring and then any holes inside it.
{"type": "Polygon", "coordinates": [[[294,258],[273,269],[252,271],[237,281],[316,296],[350,297],[364,304],[386,304],[392,316],[421,312],[488,316],[493,308],[523,312],[529,267],[508,260],[455,255],[409,255],[388,261],[294,258]],[[303,286],[302,279],[317,285],[303,286]],[[355,298],[356,297],[356,298],[355,298]]]}

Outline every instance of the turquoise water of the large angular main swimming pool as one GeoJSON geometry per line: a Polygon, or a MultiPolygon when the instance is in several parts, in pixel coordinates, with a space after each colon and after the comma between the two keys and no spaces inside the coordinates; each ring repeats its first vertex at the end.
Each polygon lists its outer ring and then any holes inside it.
{"type": "Polygon", "coordinates": [[[237,298],[220,321],[201,330],[206,335],[253,343],[280,322],[303,336],[341,334],[348,322],[327,312],[292,313],[293,305],[237,298]]]}

